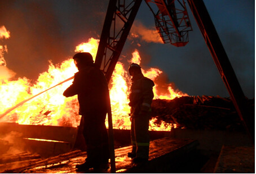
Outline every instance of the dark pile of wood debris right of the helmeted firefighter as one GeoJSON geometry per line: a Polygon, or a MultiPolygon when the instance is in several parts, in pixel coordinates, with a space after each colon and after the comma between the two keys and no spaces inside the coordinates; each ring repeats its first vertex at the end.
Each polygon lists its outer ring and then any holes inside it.
{"type": "MultiPolygon", "coordinates": [[[[254,115],[254,99],[248,99],[248,109],[254,115]]],[[[244,131],[230,98],[203,95],[152,102],[155,123],[175,123],[179,128],[200,130],[244,131]]]]}

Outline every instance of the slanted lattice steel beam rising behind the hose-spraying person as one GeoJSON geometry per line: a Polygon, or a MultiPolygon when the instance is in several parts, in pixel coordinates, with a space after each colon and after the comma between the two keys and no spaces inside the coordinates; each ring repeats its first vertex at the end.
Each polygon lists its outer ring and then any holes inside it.
{"type": "Polygon", "coordinates": [[[108,82],[111,80],[114,67],[116,67],[141,3],[142,0],[109,1],[95,59],[95,65],[103,70],[108,82]]]}

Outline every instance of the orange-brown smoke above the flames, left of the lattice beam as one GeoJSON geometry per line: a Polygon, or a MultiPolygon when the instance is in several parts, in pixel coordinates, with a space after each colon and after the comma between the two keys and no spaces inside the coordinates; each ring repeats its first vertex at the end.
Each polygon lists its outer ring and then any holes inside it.
{"type": "Polygon", "coordinates": [[[6,43],[8,68],[33,82],[47,70],[48,60],[59,63],[73,56],[76,45],[99,37],[107,3],[0,1],[0,26],[11,34],[6,43]]]}

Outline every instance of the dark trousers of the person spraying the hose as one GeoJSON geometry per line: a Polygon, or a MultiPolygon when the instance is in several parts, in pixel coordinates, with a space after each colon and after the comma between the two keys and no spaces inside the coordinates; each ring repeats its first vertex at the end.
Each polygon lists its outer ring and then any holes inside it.
{"type": "Polygon", "coordinates": [[[92,164],[108,163],[109,146],[105,121],[95,119],[105,117],[105,113],[94,113],[93,117],[88,115],[84,117],[83,136],[87,151],[86,162],[92,164]]]}

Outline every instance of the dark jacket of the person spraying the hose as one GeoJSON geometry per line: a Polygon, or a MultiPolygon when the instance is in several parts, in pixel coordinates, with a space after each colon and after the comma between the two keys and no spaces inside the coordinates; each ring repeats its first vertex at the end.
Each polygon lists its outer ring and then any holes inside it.
{"type": "MultiPolygon", "coordinates": [[[[80,115],[94,112],[105,112],[109,106],[109,91],[103,72],[94,66],[86,66],[74,75],[73,84],[63,95],[78,95],[80,115]]],[[[104,118],[105,119],[105,118],[104,118]]]]}

